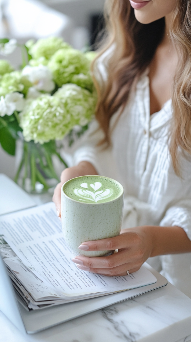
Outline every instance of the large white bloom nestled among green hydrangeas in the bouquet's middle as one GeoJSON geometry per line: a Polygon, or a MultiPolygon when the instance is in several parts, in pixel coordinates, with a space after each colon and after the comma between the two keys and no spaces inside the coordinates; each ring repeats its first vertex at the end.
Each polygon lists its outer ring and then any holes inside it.
{"type": "Polygon", "coordinates": [[[52,72],[45,65],[40,64],[39,66],[34,67],[27,65],[22,70],[22,75],[26,77],[37,90],[50,92],[55,88],[55,83],[52,80],[52,72]]]}

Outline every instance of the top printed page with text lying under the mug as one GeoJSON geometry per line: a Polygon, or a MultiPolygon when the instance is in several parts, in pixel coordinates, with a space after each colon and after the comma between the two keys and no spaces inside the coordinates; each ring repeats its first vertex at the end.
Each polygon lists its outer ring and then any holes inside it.
{"type": "Polygon", "coordinates": [[[71,261],[53,202],[0,217],[0,234],[24,264],[64,296],[114,292],[153,284],[144,267],[130,276],[107,277],[81,271],[71,261]]]}

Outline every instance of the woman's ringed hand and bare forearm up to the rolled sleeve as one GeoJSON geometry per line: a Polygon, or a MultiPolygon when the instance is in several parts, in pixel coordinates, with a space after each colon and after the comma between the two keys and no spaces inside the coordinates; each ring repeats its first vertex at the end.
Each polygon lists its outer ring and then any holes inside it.
{"type": "Polygon", "coordinates": [[[124,276],[138,271],[141,265],[156,255],[191,252],[191,241],[185,231],[177,226],[141,226],[123,229],[121,235],[83,242],[78,247],[85,251],[118,249],[108,257],[88,258],[77,256],[72,259],[84,271],[106,276],[124,276]]]}

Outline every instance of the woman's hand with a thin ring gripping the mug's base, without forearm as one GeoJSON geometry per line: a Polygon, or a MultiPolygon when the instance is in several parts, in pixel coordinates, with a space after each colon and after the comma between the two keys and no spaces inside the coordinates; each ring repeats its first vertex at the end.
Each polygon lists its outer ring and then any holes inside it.
{"type": "Polygon", "coordinates": [[[150,257],[153,249],[152,234],[149,226],[123,229],[122,234],[113,238],[83,242],[79,249],[101,251],[118,249],[108,257],[88,258],[81,255],[72,259],[84,271],[106,276],[124,276],[138,271],[150,257]]]}

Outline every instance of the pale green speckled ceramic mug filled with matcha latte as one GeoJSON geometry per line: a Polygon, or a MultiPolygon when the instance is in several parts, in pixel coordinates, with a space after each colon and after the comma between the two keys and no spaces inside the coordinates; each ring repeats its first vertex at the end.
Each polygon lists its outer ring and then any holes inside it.
{"type": "Polygon", "coordinates": [[[76,255],[101,257],[114,251],[82,251],[82,242],[120,234],[124,189],[107,177],[76,177],[61,188],[61,217],[64,238],[76,255]]]}

